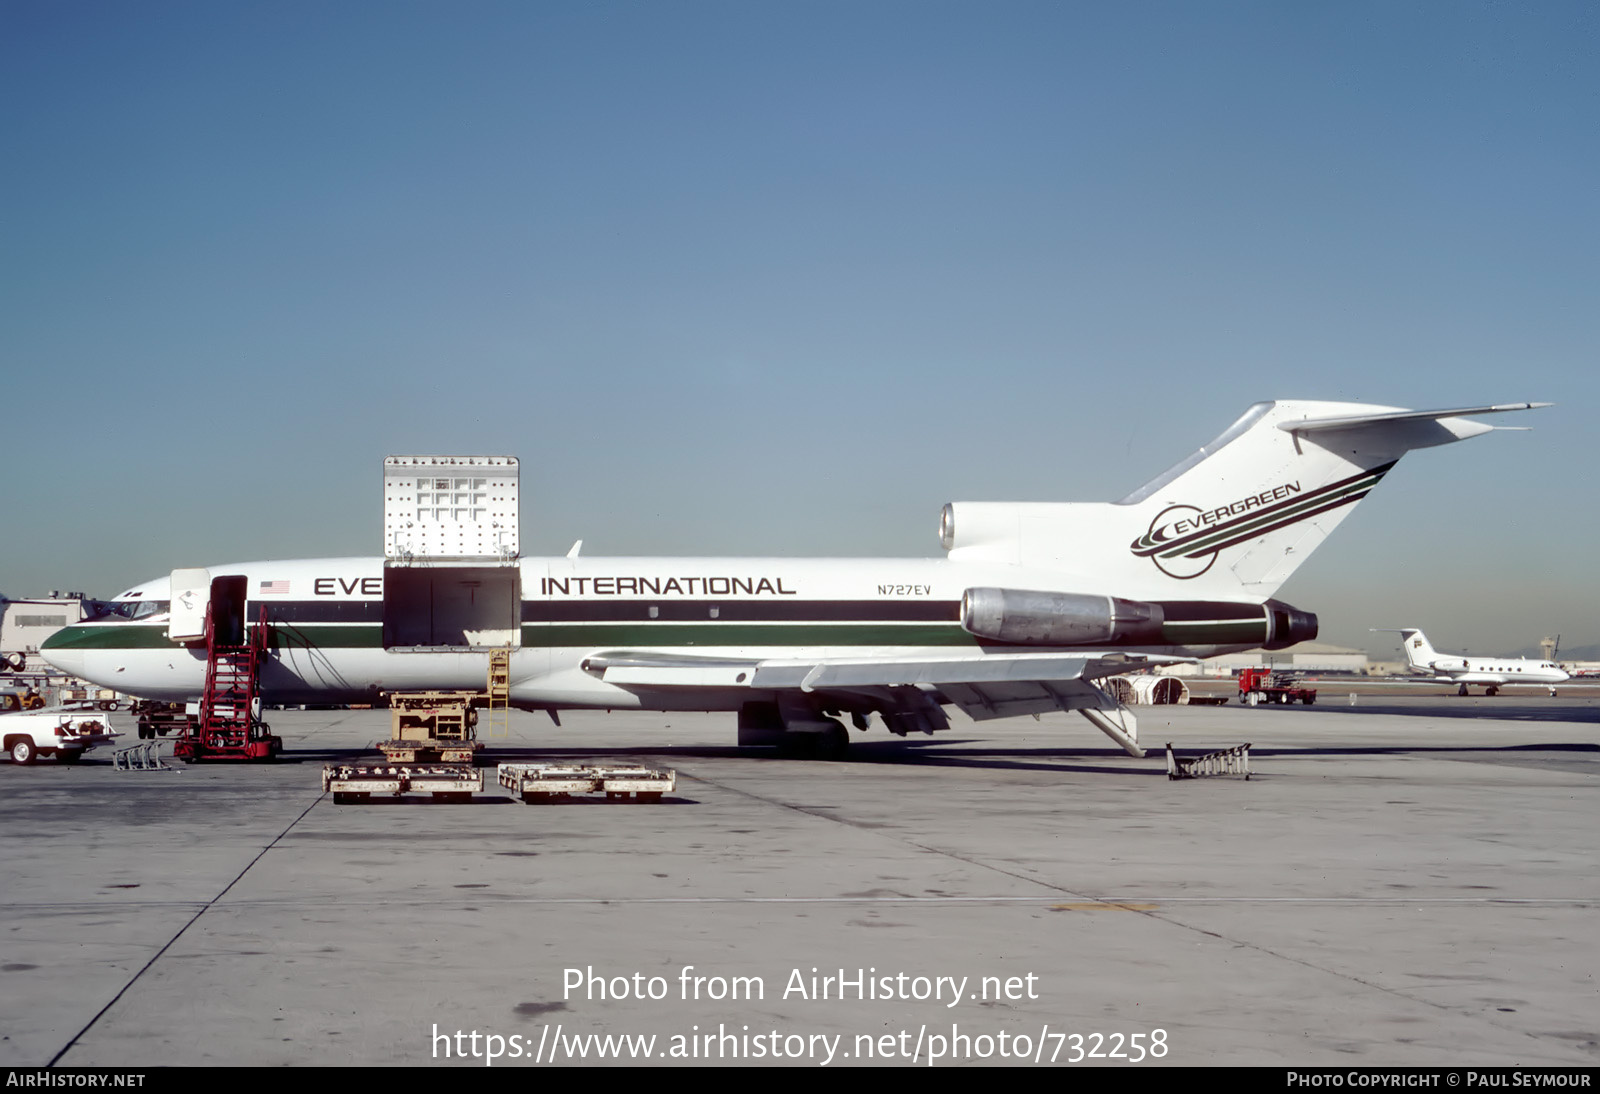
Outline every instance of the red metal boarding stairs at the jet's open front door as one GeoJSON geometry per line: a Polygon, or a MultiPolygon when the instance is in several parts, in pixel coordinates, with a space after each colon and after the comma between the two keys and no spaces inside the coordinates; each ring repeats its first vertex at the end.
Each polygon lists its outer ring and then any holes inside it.
{"type": "Polygon", "coordinates": [[[205,622],[205,693],[200,717],[189,721],[173,742],[173,757],[195,760],[270,760],[283,742],[267,733],[256,717],[261,694],[261,665],[267,659],[266,616],[254,627],[243,627],[243,641],[227,643],[218,635],[213,613],[205,622]]]}

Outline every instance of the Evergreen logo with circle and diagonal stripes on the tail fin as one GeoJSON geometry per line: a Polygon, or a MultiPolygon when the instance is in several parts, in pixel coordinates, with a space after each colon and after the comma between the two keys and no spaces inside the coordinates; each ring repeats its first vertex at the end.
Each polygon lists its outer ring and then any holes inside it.
{"type": "Polygon", "coordinates": [[[1304,491],[1296,480],[1216,509],[1168,505],[1155,515],[1149,531],[1134,539],[1128,550],[1154,561],[1168,577],[1179,581],[1198,577],[1211,569],[1218,553],[1229,547],[1298,525],[1330,509],[1354,505],[1366,497],[1397,462],[1389,461],[1312,491],[1304,491]]]}

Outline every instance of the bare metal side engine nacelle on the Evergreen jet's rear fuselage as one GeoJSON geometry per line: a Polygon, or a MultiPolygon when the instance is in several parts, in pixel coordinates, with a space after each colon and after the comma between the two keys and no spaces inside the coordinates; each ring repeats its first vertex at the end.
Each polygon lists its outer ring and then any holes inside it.
{"type": "Polygon", "coordinates": [[[1088,593],[968,589],[962,627],[979,638],[1030,646],[1160,645],[1162,606],[1088,593]]]}

